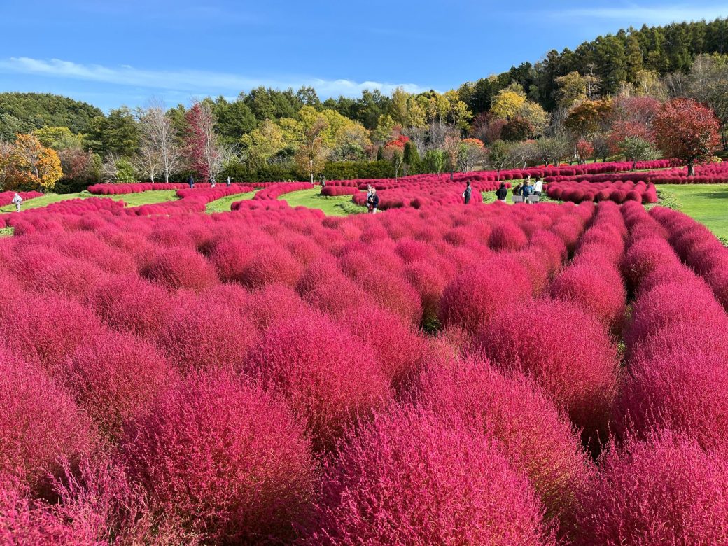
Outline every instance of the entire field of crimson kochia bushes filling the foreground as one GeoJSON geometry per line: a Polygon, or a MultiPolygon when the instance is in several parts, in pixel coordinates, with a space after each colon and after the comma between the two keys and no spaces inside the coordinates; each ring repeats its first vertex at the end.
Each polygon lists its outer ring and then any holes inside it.
{"type": "Polygon", "coordinates": [[[728,249],[582,167],[1,216],[0,543],[728,543],[728,249]]]}

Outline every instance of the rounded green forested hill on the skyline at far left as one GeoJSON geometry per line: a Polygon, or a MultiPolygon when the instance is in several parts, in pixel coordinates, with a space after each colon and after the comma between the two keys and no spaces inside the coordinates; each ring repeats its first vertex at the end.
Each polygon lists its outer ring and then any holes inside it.
{"type": "Polygon", "coordinates": [[[0,93],[0,138],[12,139],[15,134],[33,129],[68,127],[72,132],[87,130],[99,108],[50,93],[0,93]]]}

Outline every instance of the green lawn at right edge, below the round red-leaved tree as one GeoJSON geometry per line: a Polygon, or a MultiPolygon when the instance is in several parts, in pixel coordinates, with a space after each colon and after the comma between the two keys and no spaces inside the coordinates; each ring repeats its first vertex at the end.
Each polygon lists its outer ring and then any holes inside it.
{"type": "Polygon", "coordinates": [[[660,184],[681,205],[680,210],[705,224],[716,237],[728,239],[728,184],[660,184]]]}

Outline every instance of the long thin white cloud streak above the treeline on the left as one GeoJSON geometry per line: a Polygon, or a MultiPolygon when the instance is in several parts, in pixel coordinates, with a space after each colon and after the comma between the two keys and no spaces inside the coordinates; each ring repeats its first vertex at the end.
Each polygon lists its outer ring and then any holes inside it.
{"type": "Polygon", "coordinates": [[[250,90],[261,85],[279,89],[288,87],[296,89],[301,85],[306,85],[314,87],[323,97],[355,96],[360,95],[365,89],[380,90],[384,93],[391,92],[395,87],[403,87],[406,91],[413,93],[426,90],[424,87],[411,83],[352,82],[348,79],[317,78],[249,78],[223,72],[143,70],[128,65],[108,67],[84,65],[68,60],[41,60],[28,57],[11,57],[0,60],[0,73],[2,72],[212,95],[218,95],[224,91],[250,90]]]}

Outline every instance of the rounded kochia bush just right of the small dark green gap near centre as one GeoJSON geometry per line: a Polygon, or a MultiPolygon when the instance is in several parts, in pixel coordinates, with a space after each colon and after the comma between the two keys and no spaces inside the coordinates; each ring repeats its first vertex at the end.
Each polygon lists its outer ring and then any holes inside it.
{"type": "Polygon", "coordinates": [[[475,333],[495,312],[529,298],[526,271],[515,260],[492,259],[459,274],[443,292],[443,325],[475,333]]]}

